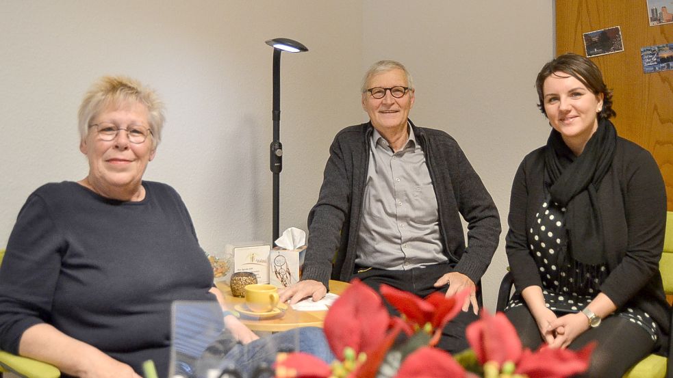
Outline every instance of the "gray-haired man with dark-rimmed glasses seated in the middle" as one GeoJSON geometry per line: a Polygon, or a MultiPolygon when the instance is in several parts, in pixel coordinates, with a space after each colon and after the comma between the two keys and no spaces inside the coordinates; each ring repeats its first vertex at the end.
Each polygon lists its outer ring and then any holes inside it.
{"type": "Polygon", "coordinates": [[[498,211],[455,139],[409,120],[414,83],[402,64],[375,63],[361,93],[370,122],[336,135],[309,213],[303,277],[281,300],[320,299],[330,277],[421,297],[469,289],[438,345],[461,351],[465,327],[477,319],[476,284],[498,246],[498,211]]]}

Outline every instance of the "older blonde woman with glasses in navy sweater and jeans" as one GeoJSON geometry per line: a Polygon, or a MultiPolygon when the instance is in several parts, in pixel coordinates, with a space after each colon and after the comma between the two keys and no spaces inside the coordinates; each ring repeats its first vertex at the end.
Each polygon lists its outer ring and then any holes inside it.
{"type": "MultiPolygon", "coordinates": [[[[86,94],[79,148],[88,175],[44,185],[21,208],[0,269],[0,349],[64,375],[139,377],[153,360],[166,377],[171,303],[217,299],[224,308],[181,198],[142,180],[163,123],[160,99],[138,81],[103,77],[86,94]]],[[[231,313],[223,320],[238,340],[225,359],[243,370],[288,343],[330,359],[320,329],[253,341],[231,313]]]]}

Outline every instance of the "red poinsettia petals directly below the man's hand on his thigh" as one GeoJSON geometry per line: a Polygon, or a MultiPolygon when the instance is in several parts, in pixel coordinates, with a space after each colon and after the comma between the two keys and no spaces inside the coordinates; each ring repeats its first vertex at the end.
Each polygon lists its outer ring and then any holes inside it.
{"type": "Polygon", "coordinates": [[[430,345],[435,345],[440,338],[444,325],[460,312],[465,297],[469,295],[468,289],[446,297],[444,294],[435,292],[422,299],[407,291],[398,290],[392,286],[381,285],[381,295],[405,315],[409,323],[417,325],[420,329],[431,326],[429,332],[434,332],[430,345]]]}

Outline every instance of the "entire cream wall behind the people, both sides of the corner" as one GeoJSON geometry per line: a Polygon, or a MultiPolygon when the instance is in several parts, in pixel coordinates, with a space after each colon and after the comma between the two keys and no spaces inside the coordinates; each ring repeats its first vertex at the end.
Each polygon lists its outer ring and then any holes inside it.
{"type": "MultiPolygon", "coordinates": [[[[505,224],[511,178],[544,143],[533,80],[553,55],[553,3],[494,1],[18,1],[0,3],[0,247],[36,187],[79,180],[77,107],[125,74],[160,92],[167,122],[148,180],[173,185],[204,249],[270,239],[271,57],[281,59],[281,230],[306,228],[327,148],[364,122],[362,73],[399,59],[416,80],[414,122],[459,141],[505,224]]],[[[501,238],[504,244],[504,233],[501,238]]],[[[506,265],[496,252],[487,306],[506,265]]]]}

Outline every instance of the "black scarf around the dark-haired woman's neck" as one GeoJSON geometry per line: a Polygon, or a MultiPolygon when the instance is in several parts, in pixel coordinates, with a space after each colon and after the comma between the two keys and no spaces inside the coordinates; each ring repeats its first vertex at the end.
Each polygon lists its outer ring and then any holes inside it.
{"type": "MultiPolygon", "coordinates": [[[[604,265],[603,226],[596,192],[612,164],[617,131],[607,119],[598,121],[596,133],[589,138],[579,157],[552,130],[545,151],[545,187],[550,200],[566,208],[568,242],[559,251],[559,264],[580,266],[581,274],[594,275],[592,267],[604,265]],[[577,264],[579,262],[579,264],[577,264]]],[[[577,282],[579,283],[579,282],[577,282]]]]}

